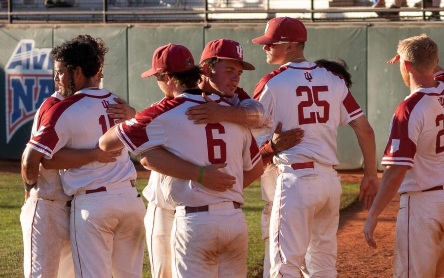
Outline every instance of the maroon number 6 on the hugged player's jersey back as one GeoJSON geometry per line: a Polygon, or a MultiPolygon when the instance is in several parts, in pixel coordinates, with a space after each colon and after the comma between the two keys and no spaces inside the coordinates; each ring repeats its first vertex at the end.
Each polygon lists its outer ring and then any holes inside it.
{"type": "Polygon", "coordinates": [[[205,125],[205,133],[207,134],[208,161],[211,163],[225,163],[226,161],[226,143],[222,139],[213,138],[213,130],[219,134],[225,134],[225,127],[222,124],[205,125]],[[219,150],[219,158],[216,158],[216,149],[219,150]]]}

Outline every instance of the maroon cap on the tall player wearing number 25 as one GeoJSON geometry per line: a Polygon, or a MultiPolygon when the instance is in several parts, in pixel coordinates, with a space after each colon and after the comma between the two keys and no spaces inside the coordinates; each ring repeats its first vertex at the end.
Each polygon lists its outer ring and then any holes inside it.
{"type": "Polygon", "coordinates": [[[273,44],[276,42],[307,41],[307,30],[304,24],[291,17],[276,17],[270,19],[265,27],[263,36],[253,39],[256,44],[273,44]]]}

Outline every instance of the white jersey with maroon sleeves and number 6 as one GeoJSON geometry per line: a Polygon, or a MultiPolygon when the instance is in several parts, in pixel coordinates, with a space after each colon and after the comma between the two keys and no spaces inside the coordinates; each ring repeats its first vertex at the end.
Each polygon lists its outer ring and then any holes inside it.
{"type": "MultiPolygon", "coordinates": [[[[165,98],[156,106],[138,113],[131,121],[120,124],[116,134],[133,154],[162,146],[196,165],[227,162],[221,170],[236,177],[236,184],[225,192],[168,177],[160,182],[169,204],[193,207],[223,201],[243,204],[243,171],[251,170],[260,160],[256,142],[244,126],[227,122],[196,125],[189,121],[185,116],[188,108],[205,100],[200,95],[201,90],[187,92],[174,99],[165,98]]],[[[230,105],[217,95],[210,95],[210,98],[221,105],[230,105]]]]}

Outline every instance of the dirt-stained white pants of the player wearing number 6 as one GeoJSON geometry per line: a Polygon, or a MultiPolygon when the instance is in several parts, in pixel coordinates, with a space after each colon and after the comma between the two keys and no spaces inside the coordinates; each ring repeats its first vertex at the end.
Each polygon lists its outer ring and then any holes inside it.
{"type": "Polygon", "coordinates": [[[176,207],[171,251],[175,278],[245,278],[247,220],[233,202],[188,214],[185,207],[176,207]]]}

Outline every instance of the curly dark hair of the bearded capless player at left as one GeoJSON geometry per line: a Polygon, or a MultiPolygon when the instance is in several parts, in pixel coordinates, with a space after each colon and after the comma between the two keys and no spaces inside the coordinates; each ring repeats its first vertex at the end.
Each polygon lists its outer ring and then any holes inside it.
{"type": "Polygon", "coordinates": [[[53,62],[60,62],[70,72],[77,66],[86,78],[96,75],[105,62],[108,48],[101,38],[78,35],[51,50],[53,62]]]}

